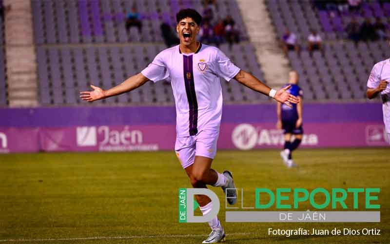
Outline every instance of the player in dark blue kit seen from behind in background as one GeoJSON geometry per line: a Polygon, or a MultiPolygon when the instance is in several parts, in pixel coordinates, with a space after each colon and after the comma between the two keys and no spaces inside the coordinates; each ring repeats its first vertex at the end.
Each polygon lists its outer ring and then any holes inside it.
{"type": "Polygon", "coordinates": [[[292,161],[292,151],[298,148],[302,141],[302,89],[298,84],[298,73],[291,71],[289,73],[289,84],[284,87],[289,87],[287,92],[299,97],[301,102],[288,106],[280,102],[277,103],[277,124],[278,129],[283,129],[284,133],[284,150],[280,152],[283,162],[290,168],[296,166],[292,161]],[[295,140],[291,142],[291,137],[294,135],[295,140]]]}

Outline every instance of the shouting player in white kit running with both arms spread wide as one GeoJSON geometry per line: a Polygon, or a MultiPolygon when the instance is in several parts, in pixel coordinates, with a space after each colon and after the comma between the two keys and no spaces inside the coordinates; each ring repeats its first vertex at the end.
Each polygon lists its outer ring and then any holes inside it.
{"type": "MultiPolygon", "coordinates": [[[[218,48],[196,41],[202,17],[195,10],[180,10],[176,20],[179,45],[160,52],[141,73],[121,84],[108,90],[91,85],[94,90],[81,92],[80,97],[82,100],[93,102],[132,91],[149,80],[170,81],[176,104],[175,151],[182,167],[193,187],[220,186],[230,197],[227,198],[228,203],[234,204],[236,190],[226,192],[226,188],[234,188],[232,173],[226,170],[220,174],[211,168],[222,115],[219,77],[226,81],[235,79],[288,105],[299,102],[299,99],[286,92],[290,86],[278,91],[273,90],[251,74],[240,70],[218,48]]],[[[209,197],[196,195],[195,198],[203,215],[212,210],[209,197]]],[[[212,232],[203,243],[223,241],[225,231],[218,218],[211,220],[209,225],[212,232]]]]}

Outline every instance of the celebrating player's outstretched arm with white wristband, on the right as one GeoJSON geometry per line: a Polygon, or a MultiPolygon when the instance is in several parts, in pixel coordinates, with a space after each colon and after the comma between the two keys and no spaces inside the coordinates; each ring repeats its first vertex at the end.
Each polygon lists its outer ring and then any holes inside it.
{"type": "Polygon", "coordinates": [[[261,82],[256,77],[254,77],[253,75],[251,75],[246,71],[240,70],[238,74],[235,75],[234,79],[240,82],[241,84],[251,88],[252,90],[260,92],[267,96],[271,96],[277,102],[285,103],[288,106],[291,106],[290,103],[299,102],[299,98],[287,92],[287,90],[290,88],[291,85],[281,88],[276,93],[270,94],[271,92],[270,87],[268,87],[266,84],[264,84],[263,82],[261,82]]]}

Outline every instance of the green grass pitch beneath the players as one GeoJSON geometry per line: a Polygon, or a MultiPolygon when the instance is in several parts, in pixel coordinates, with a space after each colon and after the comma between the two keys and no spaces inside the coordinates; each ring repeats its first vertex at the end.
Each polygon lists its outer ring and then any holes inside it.
{"type": "MultiPolygon", "coordinates": [[[[277,150],[218,151],[213,168],[233,172],[246,205],[256,187],[381,188],[381,223],[225,223],[223,192],[212,187],[226,243],[390,243],[389,156],[389,148],[298,150],[299,167],[288,169],[277,150]],[[268,235],[268,228],[298,227],[378,228],[381,235],[268,235]]],[[[0,244],[201,243],[206,223],[178,223],[179,187],[191,185],[174,152],[0,155],[0,244]]]]}

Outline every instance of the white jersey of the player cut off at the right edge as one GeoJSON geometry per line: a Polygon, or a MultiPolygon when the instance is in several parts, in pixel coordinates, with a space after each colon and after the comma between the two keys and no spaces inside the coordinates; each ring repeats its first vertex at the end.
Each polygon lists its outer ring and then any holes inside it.
{"type": "MultiPolygon", "coordinates": [[[[371,70],[367,87],[376,88],[380,81],[389,81],[385,90],[381,94],[388,94],[390,97],[390,60],[377,62],[371,70]]],[[[386,132],[390,133],[390,102],[386,102],[382,106],[383,121],[385,122],[386,132]]],[[[390,139],[390,138],[389,138],[390,139]]]]}

